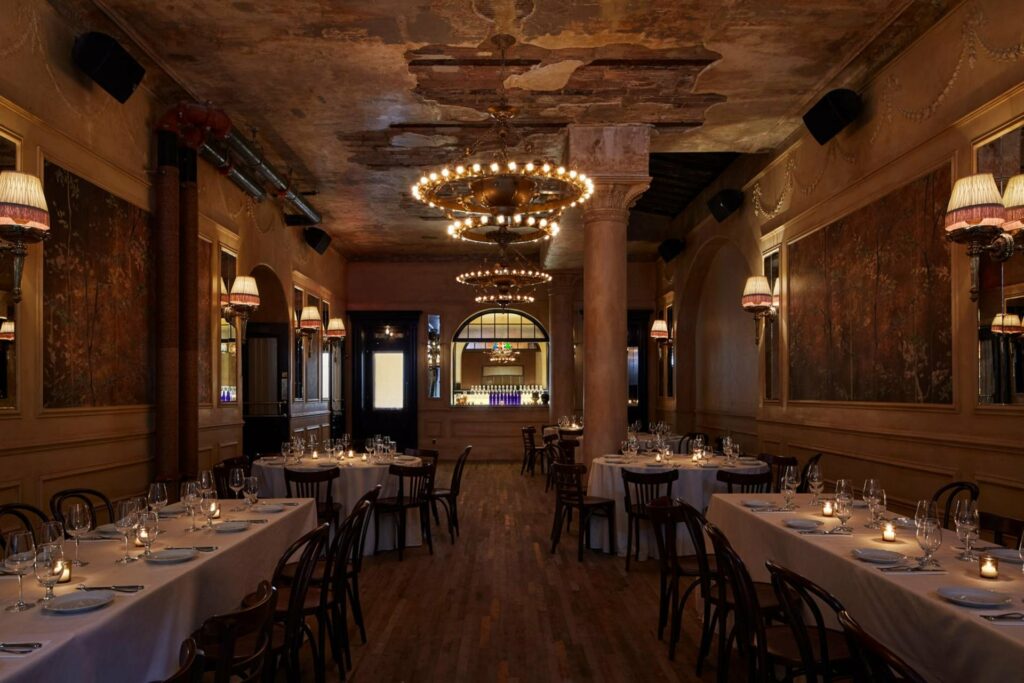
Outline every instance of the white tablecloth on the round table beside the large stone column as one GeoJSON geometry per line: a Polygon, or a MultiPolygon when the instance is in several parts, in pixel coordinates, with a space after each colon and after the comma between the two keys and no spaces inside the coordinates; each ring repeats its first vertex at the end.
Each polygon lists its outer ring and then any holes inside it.
{"type": "MultiPolygon", "coordinates": [[[[629,532],[629,517],[626,516],[626,489],[623,486],[623,470],[628,469],[634,472],[655,472],[653,468],[644,467],[645,463],[653,462],[652,458],[637,456],[633,462],[608,462],[607,456],[596,458],[590,468],[590,479],[587,484],[589,496],[599,496],[610,498],[615,501],[615,549],[620,555],[626,555],[626,540],[629,532]]],[[[724,460],[715,458],[711,461],[713,466],[697,467],[689,459],[680,457],[672,460],[672,467],[679,471],[679,479],[672,483],[673,498],[681,498],[697,510],[708,507],[712,494],[724,492],[725,484],[718,481],[718,471],[724,460]]],[[[755,473],[767,469],[763,463],[756,465],[740,464],[729,468],[737,472],[755,473]]],[[[608,533],[603,517],[594,517],[591,529],[592,542],[601,540],[602,549],[608,552],[608,533]]],[[[684,526],[678,529],[676,539],[677,551],[681,554],[693,552],[693,544],[690,543],[689,533],[684,526]]],[[[657,554],[657,544],[654,541],[653,529],[649,523],[640,524],[640,559],[646,559],[648,555],[657,554]]]]}

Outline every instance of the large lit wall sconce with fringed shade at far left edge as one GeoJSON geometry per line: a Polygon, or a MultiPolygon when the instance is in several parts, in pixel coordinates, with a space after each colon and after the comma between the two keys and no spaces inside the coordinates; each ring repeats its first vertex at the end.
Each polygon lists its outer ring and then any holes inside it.
{"type": "Polygon", "coordinates": [[[22,271],[26,245],[50,237],[50,212],[43,195],[43,183],[34,175],[4,171],[0,173],[0,252],[14,256],[14,303],[22,300],[22,271]]]}

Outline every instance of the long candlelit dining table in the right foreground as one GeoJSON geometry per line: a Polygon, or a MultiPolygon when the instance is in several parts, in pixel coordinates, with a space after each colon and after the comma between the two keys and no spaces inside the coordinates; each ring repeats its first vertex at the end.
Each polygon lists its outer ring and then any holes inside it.
{"type": "Polygon", "coordinates": [[[912,519],[890,516],[893,540],[886,541],[882,530],[866,526],[864,506],[853,510],[852,533],[829,532],[839,522],[812,504],[812,495],[794,501],[799,507],[785,511],[777,494],[715,495],[707,517],[754,581],[768,580],[766,560],[813,581],[925,680],[1021,680],[1024,617],[985,618],[1024,612],[1024,564],[1017,549],[981,544],[979,553],[1002,557],[997,578],[983,579],[977,561],[958,559],[955,531],[944,529],[934,556],[938,567],[921,571],[912,519]]]}

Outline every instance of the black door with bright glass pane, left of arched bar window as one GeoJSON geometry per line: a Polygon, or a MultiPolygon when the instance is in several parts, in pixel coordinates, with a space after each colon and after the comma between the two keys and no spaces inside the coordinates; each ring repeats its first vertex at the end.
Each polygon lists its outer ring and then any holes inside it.
{"type": "Polygon", "coordinates": [[[417,447],[419,311],[360,311],[352,322],[352,438],[383,434],[417,447]]]}

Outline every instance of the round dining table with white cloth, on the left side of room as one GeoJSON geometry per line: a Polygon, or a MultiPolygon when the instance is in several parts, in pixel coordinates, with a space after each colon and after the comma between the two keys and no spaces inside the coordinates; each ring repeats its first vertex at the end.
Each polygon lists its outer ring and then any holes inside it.
{"type": "MultiPolygon", "coordinates": [[[[355,503],[367,493],[373,490],[374,486],[381,484],[381,498],[395,496],[398,493],[398,477],[389,471],[391,462],[377,462],[371,457],[362,459],[365,454],[353,453],[352,457],[345,457],[341,460],[329,458],[303,457],[295,461],[290,461],[287,465],[281,456],[261,458],[253,462],[252,473],[259,478],[260,497],[285,498],[288,496],[288,486],[285,482],[285,468],[299,472],[317,472],[337,467],[338,476],[334,479],[332,496],[335,503],[341,504],[342,518],[351,513],[355,503]]],[[[423,462],[413,456],[396,456],[394,463],[407,467],[418,467],[423,462]]],[[[376,513],[375,513],[376,514],[376,513]]],[[[406,520],[406,547],[412,548],[422,545],[423,540],[420,533],[420,512],[419,510],[409,510],[406,520]]],[[[395,533],[397,532],[394,520],[391,518],[382,519],[380,524],[381,539],[376,543],[376,530],[374,520],[369,521],[367,528],[367,540],[364,552],[372,555],[374,548],[379,550],[393,550],[395,545],[395,533]]]]}

